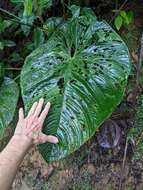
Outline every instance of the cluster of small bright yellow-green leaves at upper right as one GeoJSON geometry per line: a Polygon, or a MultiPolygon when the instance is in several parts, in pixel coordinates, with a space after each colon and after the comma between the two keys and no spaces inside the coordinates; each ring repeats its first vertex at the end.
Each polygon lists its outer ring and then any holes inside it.
{"type": "Polygon", "coordinates": [[[120,30],[122,26],[127,27],[134,20],[134,14],[132,11],[120,11],[119,15],[115,18],[114,24],[117,30],[120,30]]]}

